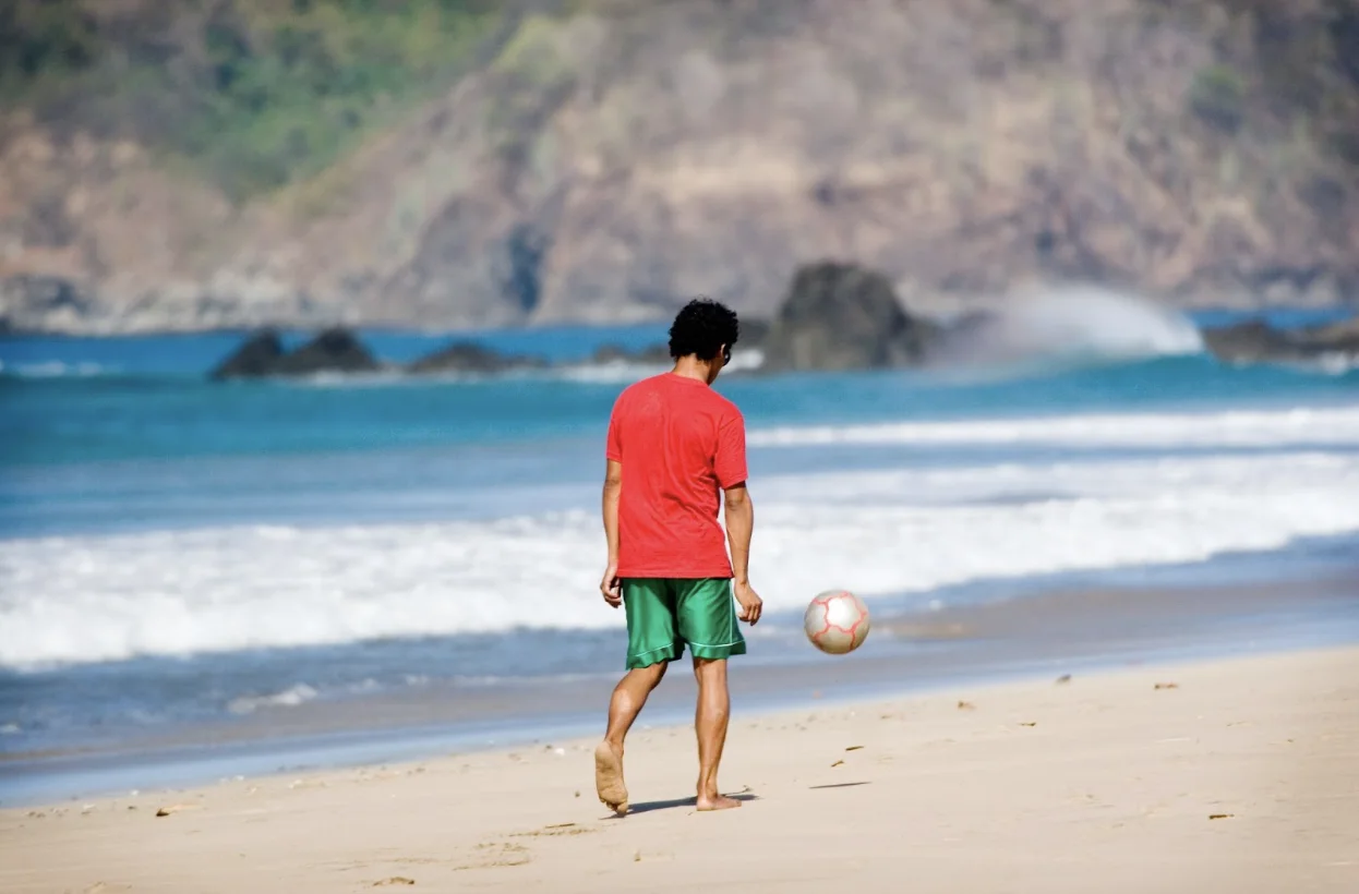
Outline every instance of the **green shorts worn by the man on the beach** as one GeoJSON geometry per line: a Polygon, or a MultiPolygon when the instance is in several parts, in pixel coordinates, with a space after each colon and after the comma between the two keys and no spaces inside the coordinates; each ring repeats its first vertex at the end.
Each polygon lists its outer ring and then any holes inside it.
{"type": "Polygon", "coordinates": [[[673,662],[685,644],[694,658],[746,654],[726,577],[629,577],[622,582],[628,613],[628,670],[673,662]]]}

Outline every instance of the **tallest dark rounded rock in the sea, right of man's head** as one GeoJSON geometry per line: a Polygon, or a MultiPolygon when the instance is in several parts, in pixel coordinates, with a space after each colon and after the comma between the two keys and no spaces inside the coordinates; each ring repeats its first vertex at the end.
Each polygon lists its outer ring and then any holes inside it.
{"type": "Polygon", "coordinates": [[[925,330],[885,274],[856,264],[805,265],[765,338],[764,370],[909,365],[923,355],[925,330]]]}

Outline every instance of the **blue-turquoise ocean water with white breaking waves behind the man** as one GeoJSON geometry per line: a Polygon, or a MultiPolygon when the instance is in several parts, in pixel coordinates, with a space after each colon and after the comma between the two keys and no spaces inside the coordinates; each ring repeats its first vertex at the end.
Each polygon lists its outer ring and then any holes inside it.
{"type": "MultiPolygon", "coordinates": [[[[749,429],[752,660],[805,660],[830,587],[892,617],[1359,567],[1359,372],[1224,365],[1195,321],[1129,307],[1007,367],[720,379],[749,429]]],[[[617,671],[603,429],[655,370],[586,360],[663,326],[478,337],[565,367],[209,383],[239,336],[0,340],[0,754],[617,671]]]]}

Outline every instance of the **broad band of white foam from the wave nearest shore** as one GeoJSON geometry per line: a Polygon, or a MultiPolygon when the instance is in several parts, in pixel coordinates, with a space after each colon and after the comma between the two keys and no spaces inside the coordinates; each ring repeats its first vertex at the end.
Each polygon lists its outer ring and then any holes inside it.
{"type": "MultiPolygon", "coordinates": [[[[1288,414],[1272,418],[1276,433],[1301,435],[1288,414]]],[[[1186,425],[1180,440],[1195,431],[1186,425]]],[[[1046,423],[1023,431],[1052,436],[1046,423]]],[[[1125,436],[1136,440],[1137,431],[1125,436]]],[[[1239,440],[1238,428],[1214,431],[1239,440]]],[[[927,594],[1276,549],[1359,531],[1356,493],[1352,451],[765,478],[754,489],[752,564],[771,611],[795,610],[832,586],[870,598],[927,594]]],[[[594,508],[493,522],[0,541],[0,664],[618,626],[621,613],[595,591],[602,558],[594,508]]]]}

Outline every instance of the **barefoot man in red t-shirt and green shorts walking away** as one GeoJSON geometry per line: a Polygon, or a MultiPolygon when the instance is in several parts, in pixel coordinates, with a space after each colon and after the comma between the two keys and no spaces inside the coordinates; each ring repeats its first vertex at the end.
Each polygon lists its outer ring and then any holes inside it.
{"type": "Polygon", "coordinates": [[[727,658],[746,652],[733,595],[747,624],[760,620],[761,601],[747,576],[754,507],[746,493],[745,420],[711,387],[738,334],[733,311],[708,299],[689,302],[670,327],[674,368],[625,389],[609,420],[609,567],[599,591],[614,609],[625,607],[628,673],[613,690],[609,728],[595,749],[595,788],[620,815],[628,812],[624,738],[686,645],[699,681],[699,810],[741,806],[718,791],[731,709],[727,658]]]}

